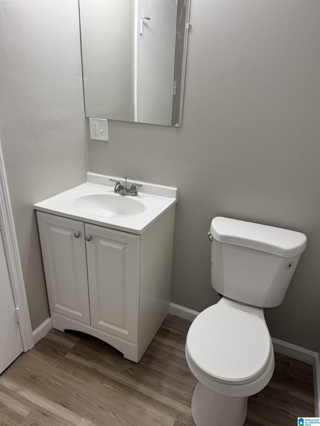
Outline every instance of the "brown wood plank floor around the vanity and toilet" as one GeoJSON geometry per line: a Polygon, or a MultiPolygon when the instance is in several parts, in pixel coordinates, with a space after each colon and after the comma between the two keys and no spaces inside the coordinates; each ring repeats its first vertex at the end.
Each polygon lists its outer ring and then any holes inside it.
{"type": "MultiPolygon", "coordinates": [[[[169,315],[139,364],[90,336],[52,330],[0,376],[0,426],[194,426],[189,325],[169,315]]],[[[298,416],[314,416],[312,367],[276,354],[245,426],[295,426],[298,416]]]]}

